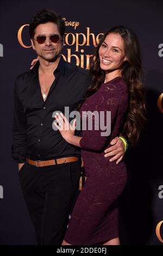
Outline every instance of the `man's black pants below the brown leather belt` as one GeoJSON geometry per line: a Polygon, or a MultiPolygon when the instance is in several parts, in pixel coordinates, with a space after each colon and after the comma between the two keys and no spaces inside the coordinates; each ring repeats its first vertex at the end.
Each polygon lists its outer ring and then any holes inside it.
{"type": "Polygon", "coordinates": [[[61,245],[78,191],[80,166],[81,160],[46,167],[26,163],[21,168],[23,196],[39,245],[61,245]]]}

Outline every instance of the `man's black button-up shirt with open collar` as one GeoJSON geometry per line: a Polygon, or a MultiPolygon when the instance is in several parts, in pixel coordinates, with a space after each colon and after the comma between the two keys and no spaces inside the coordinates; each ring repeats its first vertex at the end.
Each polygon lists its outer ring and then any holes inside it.
{"type": "Polygon", "coordinates": [[[86,70],[65,62],[61,57],[54,71],[55,80],[44,102],[38,69],[39,62],[33,70],[16,78],[12,157],[17,163],[24,163],[26,157],[49,160],[80,156],[79,148],[67,143],[59,131],[53,130],[52,114],[54,111],[65,113],[65,107],[69,107],[70,112],[77,110],[91,77],[86,70]]]}

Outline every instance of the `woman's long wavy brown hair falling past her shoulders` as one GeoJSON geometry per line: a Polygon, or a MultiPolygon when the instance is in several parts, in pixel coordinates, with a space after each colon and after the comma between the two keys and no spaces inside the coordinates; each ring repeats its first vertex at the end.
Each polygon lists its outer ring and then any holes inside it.
{"type": "Polygon", "coordinates": [[[146,93],[141,82],[143,72],[139,40],[130,28],[124,26],[112,27],[103,35],[96,49],[95,60],[92,61],[90,68],[92,84],[86,91],[85,99],[94,94],[104,83],[105,71],[100,68],[98,51],[106,36],[110,33],[119,34],[124,42],[124,52],[127,60],[122,64],[121,75],[128,85],[129,105],[122,133],[128,137],[131,145],[136,146],[146,121],[146,93]]]}

